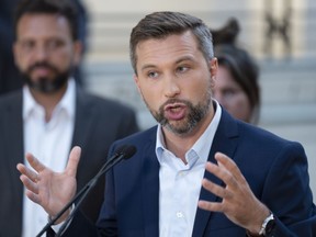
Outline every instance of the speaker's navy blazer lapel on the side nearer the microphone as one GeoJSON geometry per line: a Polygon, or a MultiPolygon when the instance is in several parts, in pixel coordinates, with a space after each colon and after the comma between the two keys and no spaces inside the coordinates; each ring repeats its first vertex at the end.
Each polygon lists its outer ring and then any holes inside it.
{"type": "MultiPolygon", "coordinates": [[[[157,126],[156,126],[157,129],[157,126]]],[[[156,158],[156,129],[151,131],[148,143],[144,146],[143,174],[143,212],[145,236],[159,236],[159,162],[156,158]]]]}

